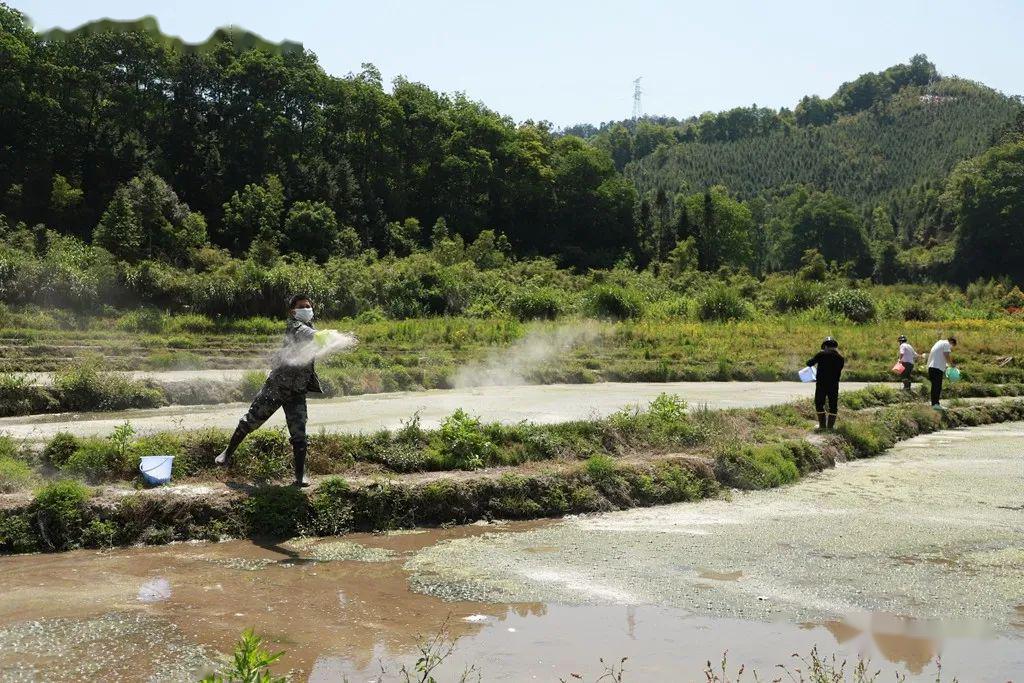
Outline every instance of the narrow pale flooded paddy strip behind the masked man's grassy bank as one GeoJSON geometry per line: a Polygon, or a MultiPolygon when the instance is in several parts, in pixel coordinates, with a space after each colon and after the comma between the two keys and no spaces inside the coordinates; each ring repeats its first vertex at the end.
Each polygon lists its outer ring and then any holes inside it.
{"type": "MultiPolygon", "coordinates": [[[[848,382],[843,388],[855,390],[864,386],[848,382]]],[[[800,382],[605,382],[397,392],[310,400],[309,424],[313,429],[323,427],[331,431],[373,431],[398,427],[419,413],[424,427],[429,427],[437,425],[459,408],[488,422],[565,422],[609,415],[628,405],[646,404],[662,392],[677,393],[693,405],[754,408],[811,396],[814,385],[800,382]]],[[[125,420],[130,420],[140,433],[178,428],[229,429],[238,424],[247,408],[246,403],[173,405],[124,413],[2,418],[0,432],[40,440],[58,431],[77,435],[109,434],[125,420]]],[[[268,424],[283,426],[284,415],[279,412],[268,424]]]]}

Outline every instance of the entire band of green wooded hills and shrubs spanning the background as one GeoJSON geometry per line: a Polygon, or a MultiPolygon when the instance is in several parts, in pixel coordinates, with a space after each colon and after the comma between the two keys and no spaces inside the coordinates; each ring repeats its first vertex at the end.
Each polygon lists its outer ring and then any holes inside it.
{"type": "Polygon", "coordinates": [[[0,303],[234,315],[304,288],[402,317],[637,271],[1021,280],[1021,111],[915,55],[794,111],[553,131],[244,31],[42,36],[0,3],[0,303]]]}

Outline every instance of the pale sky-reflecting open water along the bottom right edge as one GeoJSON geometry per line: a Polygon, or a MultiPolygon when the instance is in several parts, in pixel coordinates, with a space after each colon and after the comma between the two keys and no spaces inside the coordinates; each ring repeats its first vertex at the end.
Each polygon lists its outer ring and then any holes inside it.
{"type": "MultiPolygon", "coordinates": [[[[1020,640],[951,634],[941,624],[884,613],[797,625],[640,605],[549,604],[509,606],[503,614],[467,621],[481,628],[453,635],[455,648],[438,680],[458,680],[470,667],[486,681],[571,680],[572,674],[592,680],[603,671],[601,658],[624,656],[630,680],[702,680],[706,663],[719,661],[724,650],[730,671],[743,665],[771,680],[777,665],[800,667],[794,655],[806,657],[815,647],[838,661],[867,658],[870,670],[886,679],[900,672],[908,681],[934,681],[940,654],[944,676],[959,680],[1007,680],[1008,672],[1024,668],[1020,640]]],[[[412,669],[417,656],[416,648],[401,650],[383,641],[375,643],[370,657],[325,652],[309,680],[376,680],[382,670],[393,675],[402,666],[412,669]]]]}

